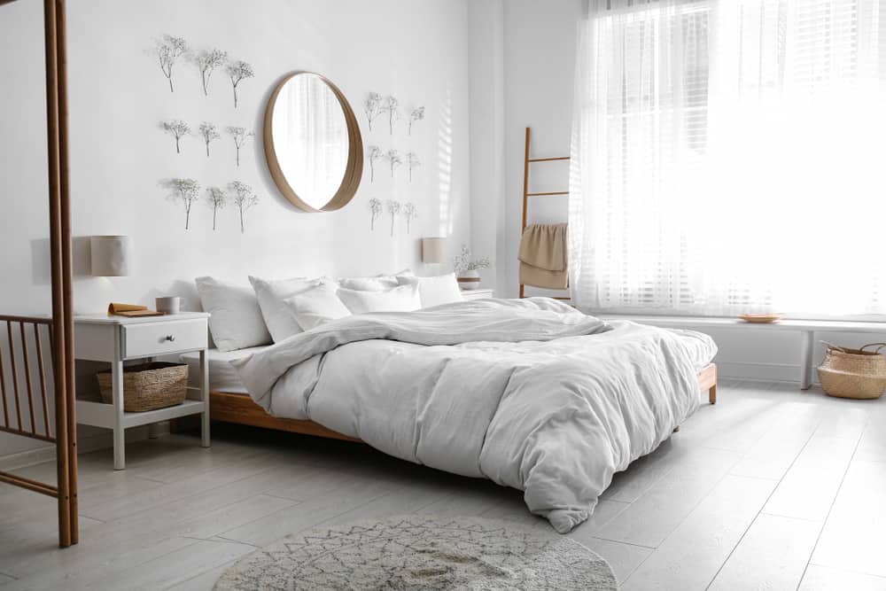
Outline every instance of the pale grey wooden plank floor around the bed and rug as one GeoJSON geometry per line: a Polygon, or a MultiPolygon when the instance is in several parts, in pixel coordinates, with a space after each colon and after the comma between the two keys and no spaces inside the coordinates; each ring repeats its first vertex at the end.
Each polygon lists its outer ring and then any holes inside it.
{"type": "MultiPolygon", "coordinates": [[[[517,491],[346,442],[217,426],[81,456],[81,543],[51,499],[0,487],[0,591],[209,589],[238,557],[318,524],[418,512],[546,528],[517,491]]],[[[51,464],[20,473],[51,478],[51,464]]],[[[625,589],[886,589],[886,399],[732,383],[617,475],[571,537],[625,589]]]]}

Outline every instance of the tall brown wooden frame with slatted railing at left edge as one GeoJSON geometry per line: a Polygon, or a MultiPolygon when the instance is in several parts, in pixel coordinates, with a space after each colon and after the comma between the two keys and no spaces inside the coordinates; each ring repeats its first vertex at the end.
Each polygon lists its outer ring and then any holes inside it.
{"type": "MultiPolygon", "coordinates": [[[[0,0],[0,5],[13,0],[0,0]]],[[[12,358],[12,385],[18,424],[12,428],[7,411],[4,369],[0,365],[3,386],[4,424],[0,431],[51,441],[56,444],[57,486],[30,478],[0,472],[0,481],[27,488],[58,499],[58,545],[67,548],[79,541],[77,503],[77,417],[74,386],[74,303],[71,257],[71,186],[68,159],[67,52],[65,0],[43,0],[43,35],[46,57],[46,132],[49,176],[50,258],[52,277],[52,318],[0,316],[7,324],[12,358]],[[19,390],[12,348],[12,323],[19,323],[20,355],[24,361],[30,429],[22,424],[19,390]],[[26,324],[32,324],[36,343],[41,393],[43,394],[43,433],[35,426],[35,407],[31,389],[26,324]],[[55,433],[49,424],[47,382],[44,375],[40,327],[45,325],[52,352],[51,374],[55,392],[55,433]]]]}

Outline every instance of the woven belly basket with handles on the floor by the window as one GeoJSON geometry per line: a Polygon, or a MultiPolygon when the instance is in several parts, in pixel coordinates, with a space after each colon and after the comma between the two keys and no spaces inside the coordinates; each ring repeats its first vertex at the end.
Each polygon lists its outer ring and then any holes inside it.
{"type": "Polygon", "coordinates": [[[824,344],[828,353],[819,366],[819,381],[825,393],[838,398],[880,398],[886,389],[886,357],[880,349],[886,343],[871,343],[860,349],[824,344]],[[865,351],[868,346],[878,347],[865,351]]]}

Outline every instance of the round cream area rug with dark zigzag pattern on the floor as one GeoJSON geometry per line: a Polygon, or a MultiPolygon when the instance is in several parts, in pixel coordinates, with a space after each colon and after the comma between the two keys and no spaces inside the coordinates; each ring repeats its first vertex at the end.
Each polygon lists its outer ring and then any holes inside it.
{"type": "Polygon", "coordinates": [[[555,533],[406,515],[317,527],[246,556],[215,589],[617,589],[610,565],[555,533]]]}

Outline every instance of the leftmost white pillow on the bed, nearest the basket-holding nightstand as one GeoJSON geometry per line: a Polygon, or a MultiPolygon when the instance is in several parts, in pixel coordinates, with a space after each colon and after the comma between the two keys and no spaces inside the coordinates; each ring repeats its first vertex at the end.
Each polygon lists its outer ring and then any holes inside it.
{"type": "Polygon", "coordinates": [[[236,351],[271,342],[253,290],[213,277],[198,277],[194,283],[203,310],[210,314],[209,330],[219,351],[236,351]]]}

